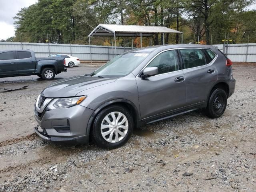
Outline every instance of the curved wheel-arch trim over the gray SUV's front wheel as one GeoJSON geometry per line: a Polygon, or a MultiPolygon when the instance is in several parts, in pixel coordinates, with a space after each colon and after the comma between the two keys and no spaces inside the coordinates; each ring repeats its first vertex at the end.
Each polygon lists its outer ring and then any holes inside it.
{"type": "Polygon", "coordinates": [[[135,109],[135,112],[136,112],[136,122],[134,122],[135,124],[138,124],[139,122],[139,119],[140,119],[140,116],[139,116],[139,112],[138,112],[138,109],[137,107],[134,105],[133,102],[131,102],[130,100],[127,100],[127,99],[114,99],[114,100],[110,100],[110,101],[107,101],[103,104],[101,104],[93,113],[92,115],[90,116],[90,119],[88,121],[88,124],[87,124],[87,127],[86,127],[86,135],[89,135],[90,134],[90,128],[93,124],[93,120],[94,118],[97,116],[97,114],[103,109],[105,108],[106,106],[109,106],[111,104],[114,104],[114,103],[118,103],[118,102],[122,102],[122,103],[127,103],[127,104],[130,104],[134,109],[135,109]]]}

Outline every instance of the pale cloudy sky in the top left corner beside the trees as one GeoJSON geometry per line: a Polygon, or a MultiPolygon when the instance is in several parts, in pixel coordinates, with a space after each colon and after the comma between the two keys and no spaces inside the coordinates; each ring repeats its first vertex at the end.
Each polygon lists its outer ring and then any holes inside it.
{"type": "Polygon", "coordinates": [[[14,19],[19,10],[37,0],[0,0],[0,40],[14,36],[14,19]]]}

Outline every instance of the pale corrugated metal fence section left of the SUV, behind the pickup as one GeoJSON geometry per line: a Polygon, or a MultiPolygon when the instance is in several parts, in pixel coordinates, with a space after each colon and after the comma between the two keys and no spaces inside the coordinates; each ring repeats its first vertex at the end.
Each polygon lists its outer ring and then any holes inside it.
{"type": "MultiPolygon", "coordinates": [[[[0,42],[0,51],[3,50],[33,50],[36,57],[48,57],[51,54],[69,54],[80,60],[90,60],[89,45],[75,44],[46,44],[46,43],[20,43],[0,42]]],[[[116,47],[116,53],[122,54],[130,47],[116,47]]],[[[91,46],[92,60],[110,60],[115,56],[115,48],[112,46],[91,46]]]]}

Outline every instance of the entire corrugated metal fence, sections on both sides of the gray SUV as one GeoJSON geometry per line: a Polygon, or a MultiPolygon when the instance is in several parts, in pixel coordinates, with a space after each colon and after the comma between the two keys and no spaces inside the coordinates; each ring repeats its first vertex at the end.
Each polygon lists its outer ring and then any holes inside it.
{"type": "MultiPolygon", "coordinates": [[[[256,62],[256,43],[218,44],[214,46],[218,46],[234,62],[256,62]]],[[[33,50],[36,57],[47,57],[50,54],[70,54],[80,58],[80,60],[90,60],[89,45],[0,42],[0,51],[22,49],[33,50]]],[[[116,47],[116,52],[122,54],[131,49],[130,47],[116,47]]],[[[91,52],[92,60],[110,60],[115,56],[115,49],[112,46],[92,45],[91,52]]]]}

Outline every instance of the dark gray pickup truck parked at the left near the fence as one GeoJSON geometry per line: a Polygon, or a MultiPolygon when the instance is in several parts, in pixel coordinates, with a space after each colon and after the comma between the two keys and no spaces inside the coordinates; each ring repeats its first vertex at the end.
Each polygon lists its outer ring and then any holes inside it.
{"type": "Polygon", "coordinates": [[[0,52],[0,78],[37,75],[52,80],[63,71],[67,71],[65,58],[36,58],[32,50],[0,52]]]}

